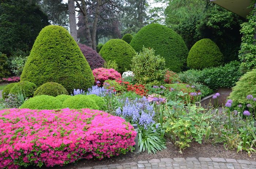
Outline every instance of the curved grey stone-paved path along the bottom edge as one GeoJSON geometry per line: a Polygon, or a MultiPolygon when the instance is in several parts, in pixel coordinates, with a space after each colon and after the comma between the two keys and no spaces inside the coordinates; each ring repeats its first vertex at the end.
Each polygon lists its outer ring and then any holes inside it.
{"type": "Polygon", "coordinates": [[[161,158],[124,164],[98,165],[78,169],[256,169],[256,161],[232,158],[161,158]]]}

